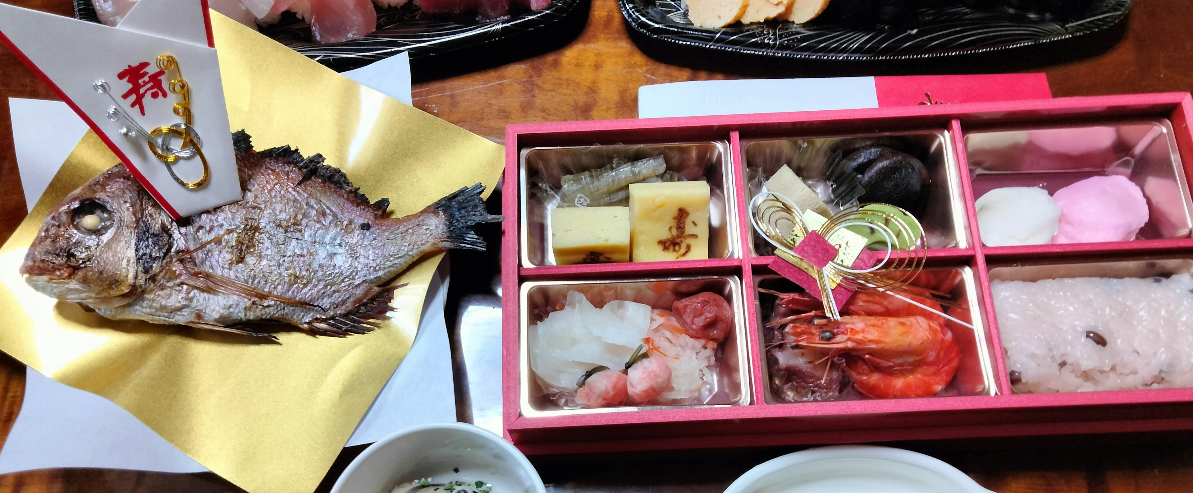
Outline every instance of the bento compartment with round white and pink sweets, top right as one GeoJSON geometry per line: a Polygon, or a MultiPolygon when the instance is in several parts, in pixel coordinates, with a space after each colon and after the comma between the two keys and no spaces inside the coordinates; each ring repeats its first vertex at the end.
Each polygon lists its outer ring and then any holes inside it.
{"type": "Polygon", "coordinates": [[[1183,239],[1193,226],[1167,118],[966,131],[965,158],[987,247],[1183,239]]]}

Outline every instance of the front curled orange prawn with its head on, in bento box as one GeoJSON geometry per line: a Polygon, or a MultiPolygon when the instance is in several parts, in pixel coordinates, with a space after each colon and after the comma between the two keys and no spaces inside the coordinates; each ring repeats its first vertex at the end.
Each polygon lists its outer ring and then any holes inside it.
{"type": "MultiPolygon", "coordinates": [[[[871,398],[937,395],[953,378],[960,351],[937,319],[925,316],[791,316],[785,343],[827,352],[871,398]]],[[[777,325],[778,325],[777,323],[777,325]]]]}

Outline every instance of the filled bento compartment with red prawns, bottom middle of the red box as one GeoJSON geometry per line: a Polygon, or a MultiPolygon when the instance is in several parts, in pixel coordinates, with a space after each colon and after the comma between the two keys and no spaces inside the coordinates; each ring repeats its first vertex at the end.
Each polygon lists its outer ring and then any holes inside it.
{"type": "Polygon", "coordinates": [[[755,272],[755,326],[752,337],[758,338],[762,350],[761,355],[754,356],[758,359],[755,364],[762,370],[765,401],[802,403],[997,394],[990,337],[983,325],[981,295],[972,270],[969,266],[932,267],[921,271],[914,279],[908,290],[921,295],[934,291],[948,304],[941,306],[909,292],[855,292],[841,308],[842,322],[851,328],[839,329],[830,320],[820,316],[823,313],[820,301],[799,285],[768,270],[755,272]],[[973,307],[977,307],[976,312],[973,307]],[[810,309],[815,313],[801,316],[810,309]],[[938,309],[938,313],[927,309],[938,309]],[[932,322],[908,322],[905,319],[917,315],[932,319],[932,322]],[[796,325],[790,326],[795,328],[785,328],[786,323],[773,326],[783,319],[796,319],[796,325]],[[888,322],[892,325],[885,325],[888,322]],[[905,327],[925,327],[925,323],[942,327],[947,337],[920,338],[923,345],[908,344],[909,339],[889,339],[894,333],[922,335],[923,328],[905,331],[905,327]],[[816,331],[821,329],[827,332],[821,332],[821,338],[817,338],[816,331]],[[830,334],[832,338],[823,339],[830,334]],[[956,345],[956,370],[950,371],[950,376],[942,376],[948,358],[931,355],[947,355],[950,350],[945,346],[948,343],[942,339],[950,338],[956,345]],[[804,339],[812,345],[792,344],[804,339]],[[824,347],[815,347],[821,340],[827,341],[824,347]],[[908,366],[909,362],[920,366],[921,357],[921,369],[908,366]],[[846,365],[851,370],[845,370],[846,365]],[[865,381],[851,383],[855,375],[865,381]],[[884,392],[905,393],[931,386],[934,381],[940,386],[935,394],[880,395],[884,392]]]}

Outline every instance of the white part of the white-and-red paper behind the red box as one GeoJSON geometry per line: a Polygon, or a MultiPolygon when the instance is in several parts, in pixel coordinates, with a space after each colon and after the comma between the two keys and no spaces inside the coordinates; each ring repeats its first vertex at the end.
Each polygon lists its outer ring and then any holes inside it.
{"type": "Polygon", "coordinates": [[[874,78],[693,80],[638,87],[638,118],[878,107],[874,78]]]}

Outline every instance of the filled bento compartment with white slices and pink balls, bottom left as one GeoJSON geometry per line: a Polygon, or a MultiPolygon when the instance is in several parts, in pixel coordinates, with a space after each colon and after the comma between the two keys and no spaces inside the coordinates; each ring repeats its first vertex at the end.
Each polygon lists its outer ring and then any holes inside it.
{"type": "MultiPolygon", "coordinates": [[[[742,406],[750,401],[746,315],[737,277],[527,282],[521,285],[520,301],[523,415],[742,406]],[[681,315],[705,313],[706,307],[717,310],[710,303],[716,297],[724,300],[728,312],[699,320],[681,315]],[[670,375],[663,394],[645,401],[633,398],[636,375],[625,364],[639,353],[666,362],[670,375]],[[585,406],[586,398],[579,393],[589,384],[576,387],[598,366],[630,374],[630,398],[604,401],[604,407],[585,406]]],[[[648,372],[655,370],[644,371],[638,382],[648,382],[648,372]]],[[[611,386],[606,381],[598,384],[611,386]]],[[[588,396],[614,394],[605,388],[586,392],[588,396]]],[[[587,401],[593,402],[591,398],[587,401]]]]}

